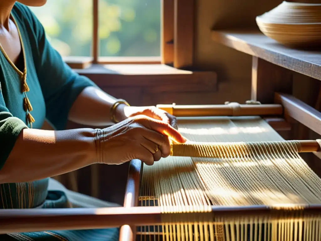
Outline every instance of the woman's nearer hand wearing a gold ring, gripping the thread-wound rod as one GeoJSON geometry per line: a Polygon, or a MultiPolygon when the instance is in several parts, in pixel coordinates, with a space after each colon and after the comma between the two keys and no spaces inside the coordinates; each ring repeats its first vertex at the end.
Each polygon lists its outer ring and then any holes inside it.
{"type": "Polygon", "coordinates": [[[170,154],[169,138],[178,143],[186,139],[168,123],[138,115],[105,129],[96,129],[98,163],[122,164],[139,159],[146,165],[170,154]]]}

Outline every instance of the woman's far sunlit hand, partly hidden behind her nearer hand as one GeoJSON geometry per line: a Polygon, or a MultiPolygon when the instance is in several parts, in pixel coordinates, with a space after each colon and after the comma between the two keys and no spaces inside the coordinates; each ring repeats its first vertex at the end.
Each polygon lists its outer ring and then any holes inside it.
{"type": "Polygon", "coordinates": [[[146,115],[156,120],[169,123],[173,128],[178,129],[176,117],[155,106],[124,106],[124,114],[126,118],[136,115],[146,115]]]}

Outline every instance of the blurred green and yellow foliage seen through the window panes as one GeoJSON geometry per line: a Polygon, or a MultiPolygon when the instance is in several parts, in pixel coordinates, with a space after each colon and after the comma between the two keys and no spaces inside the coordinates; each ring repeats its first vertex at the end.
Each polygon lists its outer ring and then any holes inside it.
{"type": "MultiPolygon", "coordinates": [[[[91,56],[92,0],[31,10],[62,56],[91,56]]],[[[100,56],[160,56],[160,0],[99,0],[100,56]]]]}

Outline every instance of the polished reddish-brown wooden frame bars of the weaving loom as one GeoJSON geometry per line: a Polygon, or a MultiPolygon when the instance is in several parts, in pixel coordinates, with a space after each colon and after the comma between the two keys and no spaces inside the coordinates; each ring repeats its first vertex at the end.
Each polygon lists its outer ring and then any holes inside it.
{"type": "MultiPolygon", "coordinates": [[[[180,106],[160,105],[159,108],[166,109],[176,115],[178,119],[184,116],[273,116],[265,118],[275,130],[286,130],[288,125],[282,118],[293,118],[300,121],[311,129],[319,128],[320,113],[308,105],[300,102],[294,97],[286,94],[275,94],[275,104],[244,104],[229,103],[226,105],[207,106],[180,106]],[[284,117],[284,115],[283,115],[284,117]],[[309,121],[314,120],[314,121],[309,121]]],[[[320,145],[316,140],[300,141],[299,152],[318,152],[320,145]]],[[[98,209],[54,209],[54,210],[3,210],[0,213],[0,233],[26,232],[57,229],[88,229],[119,227],[120,240],[134,240],[136,237],[136,226],[161,225],[166,220],[166,215],[161,213],[158,206],[137,207],[139,200],[140,181],[143,165],[140,160],[132,160],[129,164],[129,173],[126,184],[124,207],[98,208],[98,209]]],[[[305,213],[316,213],[321,211],[321,205],[301,206],[305,213]]],[[[264,205],[245,207],[212,206],[212,212],[217,215],[229,217],[251,214],[273,214],[278,212],[273,207],[264,205]]],[[[186,214],[175,214],[170,219],[180,221],[193,221],[194,216],[186,214]]],[[[170,222],[170,221],[168,221],[170,222]]],[[[138,239],[143,235],[142,230],[138,232],[138,239]]]]}

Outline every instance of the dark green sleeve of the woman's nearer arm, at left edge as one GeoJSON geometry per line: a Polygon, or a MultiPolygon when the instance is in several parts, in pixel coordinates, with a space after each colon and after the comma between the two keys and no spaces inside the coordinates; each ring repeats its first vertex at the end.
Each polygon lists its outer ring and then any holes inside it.
{"type": "Polygon", "coordinates": [[[4,103],[0,85],[0,170],[7,160],[22,129],[28,128],[19,118],[13,117],[4,103]]]}

